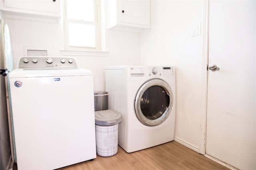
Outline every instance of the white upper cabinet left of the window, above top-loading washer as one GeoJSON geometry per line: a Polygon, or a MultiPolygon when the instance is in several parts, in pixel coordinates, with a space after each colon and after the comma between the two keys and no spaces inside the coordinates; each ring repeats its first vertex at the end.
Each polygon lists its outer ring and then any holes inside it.
{"type": "Polygon", "coordinates": [[[3,18],[60,21],[60,0],[1,0],[3,18]]]}

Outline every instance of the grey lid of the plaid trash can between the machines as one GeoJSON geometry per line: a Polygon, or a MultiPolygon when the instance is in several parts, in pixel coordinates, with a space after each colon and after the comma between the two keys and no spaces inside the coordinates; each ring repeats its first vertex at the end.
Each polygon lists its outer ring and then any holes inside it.
{"type": "Polygon", "coordinates": [[[121,115],[115,110],[101,110],[94,113],[97,125],[116,125],[121,121],[121,115]]]}

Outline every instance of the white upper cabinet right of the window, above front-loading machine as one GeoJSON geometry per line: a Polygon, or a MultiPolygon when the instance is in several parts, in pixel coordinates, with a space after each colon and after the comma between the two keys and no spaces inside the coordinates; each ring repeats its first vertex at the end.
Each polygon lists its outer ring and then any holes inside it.
{"type": "Polygon", "coordinates": [[[139,31],[150,28],[150,0],[107,0],[107,28],[139,31]]]}

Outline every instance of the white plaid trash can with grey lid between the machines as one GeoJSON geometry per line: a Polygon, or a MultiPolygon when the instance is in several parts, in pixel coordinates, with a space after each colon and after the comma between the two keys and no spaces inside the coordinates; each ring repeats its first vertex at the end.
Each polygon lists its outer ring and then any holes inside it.
{"type": "Polygon", "coordinates": [[[95,111],[96,152],[112,156],[118,150],[118,126],[121,115],[114,110],[95,111]]]}

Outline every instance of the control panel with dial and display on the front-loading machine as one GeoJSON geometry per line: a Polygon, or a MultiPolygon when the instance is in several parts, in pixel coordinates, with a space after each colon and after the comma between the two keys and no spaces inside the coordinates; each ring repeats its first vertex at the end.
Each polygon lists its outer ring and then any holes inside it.
{"type": "Polygon", "coordinates": [[[175,68],[172,66],[149,66],[146,69],[147,76],[175,77],[175,68]]]}

